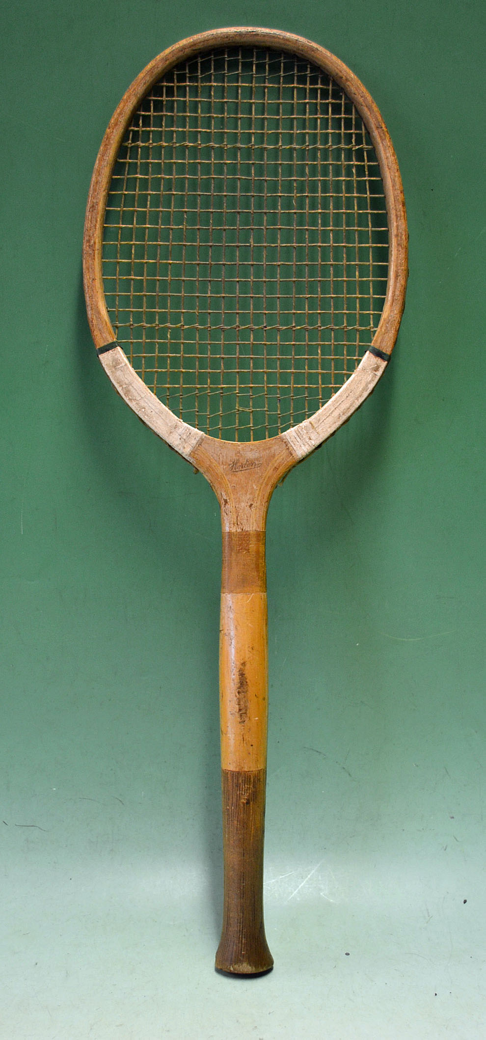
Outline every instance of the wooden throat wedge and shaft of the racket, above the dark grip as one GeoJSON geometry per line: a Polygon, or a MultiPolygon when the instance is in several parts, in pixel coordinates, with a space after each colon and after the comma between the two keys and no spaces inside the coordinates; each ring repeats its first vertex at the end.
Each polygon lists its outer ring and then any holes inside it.
{"type": "Polygon", "coordinates": [[[191,460],[221,506],[222,765],[261,770],[267,719],[266,513],[274,488],[297,458],[281,438],[234,444],[204,437],[191,460]]]}

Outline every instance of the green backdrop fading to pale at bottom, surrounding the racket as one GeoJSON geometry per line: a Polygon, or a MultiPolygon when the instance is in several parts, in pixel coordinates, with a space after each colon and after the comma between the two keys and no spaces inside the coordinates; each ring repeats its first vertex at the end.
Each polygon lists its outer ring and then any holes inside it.
{"type": "Polygon", "coordinates": [[[2,6],[0,1037],[479,1038],[483,0],[2,6]],[[250,981],[212,968],[215,499],[106,380],[80,262],[127,85],[231,24],[351,66],[391,133],[410,230],[388,371],[271,505],[276,968],[250,981]]]}

